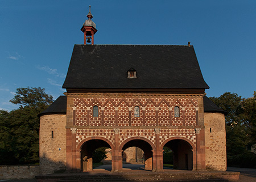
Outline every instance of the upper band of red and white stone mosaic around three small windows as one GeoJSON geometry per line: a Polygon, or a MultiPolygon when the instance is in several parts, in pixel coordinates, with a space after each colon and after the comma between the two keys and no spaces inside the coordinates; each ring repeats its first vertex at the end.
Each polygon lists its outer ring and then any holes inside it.
{"type": "Polygon", "coordinates": [[[196,98],[157,98],[156,96],[112,97],[100,95],[91,98],[74,98],[77,126],[185,126],[196,125],[196,98]],[[93,117],[93,106],[98,106],[98,117],[93,117]],[[134,116],[134,107],[140,108],[139,117],[134,116]],[[174,107],[180,109],[180,117],[174,117],[174,107]],[[183,112],[184,111],[184,112],[183,112]],[[158,112],[158,116],[156,114],[158,112]],[[89,116],[88,116],[89,113],[89,116]],[[158,117],[158,118],[157,118],[158,117]],[[184,118],[184,119],[183,119],[184,118]],[[89,120],[89,122],[88,122],[89,120]]]}

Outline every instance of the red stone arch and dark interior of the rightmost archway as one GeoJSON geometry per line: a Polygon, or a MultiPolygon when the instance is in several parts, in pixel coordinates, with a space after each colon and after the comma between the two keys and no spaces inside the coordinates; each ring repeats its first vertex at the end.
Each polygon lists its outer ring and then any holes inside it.
{"type": "Polygon", "coordinates": [[[171,137],[166,139],[160,146],[170,148],[174,154],[174,169],[193,170],[196,167],[196,147],[187,138],[171,137]]]}

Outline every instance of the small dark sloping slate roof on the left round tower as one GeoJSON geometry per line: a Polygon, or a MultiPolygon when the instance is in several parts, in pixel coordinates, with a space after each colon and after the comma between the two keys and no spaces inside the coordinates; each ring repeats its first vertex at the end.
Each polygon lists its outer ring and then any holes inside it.
{"type": "Polygon", "coordinates": [[[42,115],[51,114],[66,114],[67,113],[67,97],[65,95],[59,96],[46,110],[41,112],[38,117],[42,115]]]}

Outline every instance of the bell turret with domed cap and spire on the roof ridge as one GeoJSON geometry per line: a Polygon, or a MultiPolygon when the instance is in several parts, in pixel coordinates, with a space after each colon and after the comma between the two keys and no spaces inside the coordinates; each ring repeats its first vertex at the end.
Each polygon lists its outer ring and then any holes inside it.
{"type": "Polygon", "coordinates": [[[89,12],[87,15],[88,20],[82,24],[81,31],[84,32],[84,45],[91,43],[94,44],[94,34],[97,32],[96,24],[92,21],[93,15],[90,12],[89,6],[89,12]]]}

